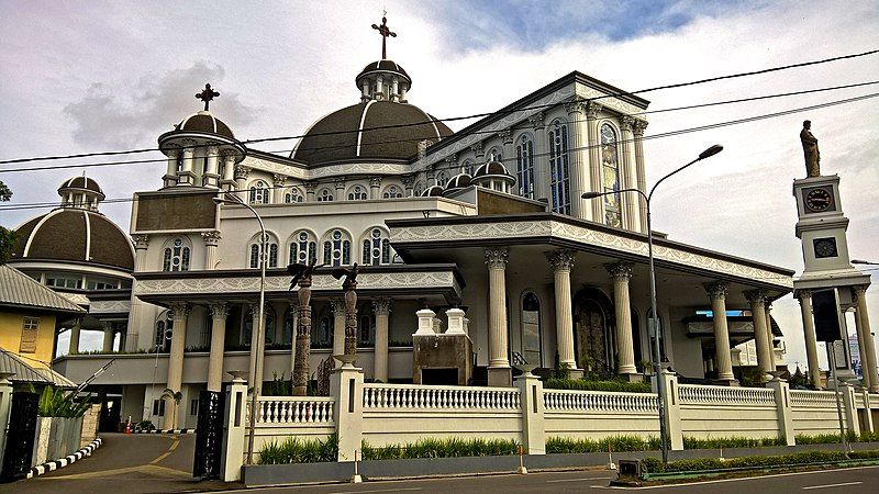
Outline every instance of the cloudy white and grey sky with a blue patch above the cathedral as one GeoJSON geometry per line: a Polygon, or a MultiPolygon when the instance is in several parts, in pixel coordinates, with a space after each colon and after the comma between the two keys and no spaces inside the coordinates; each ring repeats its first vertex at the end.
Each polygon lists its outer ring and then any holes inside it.
{"type": "MultiPolygon", "coordinates": [[[[211,110],[237,137],[300,134],[358,101],[354,77],[380,55],[370,24],[382,9],[398,33],[389,57],[413,78],[410,101],[450,117],[497,110],[572,70],[636,91],[879,48],[879,3],[833,4],[0,0],[0,159],[155,146],[160,133],[199,110],[192,94],[208,81],[222,93],[211,110]]],[[[871,55],[643,96],[652,110],[661,110],[876,80],[879,55],[871,55]]],[[[647,115],[646,135],[874,92],[879,85],[655,113],[647,115]]],[[[867,99],[645,142],[648,180],[711,144],[725,147],[663,184],[655,227],[681,242],[801,271],[791,186],[805,175],[798,134],[810,119],[822,172],[842,177],[852,257],[879,260],[877,110],[879,99],[867,99]]],[[[262,148],[287,153],[294,144],[262,148]]],[[[123,159],[156,158],[158,153],[123,159]]],[[[0,180],[13,189],[13,204],[55,201],[62,180],[82,172],[3,171],[10,167],[0,165],[0,180]]],[[[156,189],[163,172],[163,164],[88,171],[108,198],[156,189]]],[[[40,211],[0,210],[0,224],[14,227],[40,211]]],[[[127,226],[127,204],[102,211],[127,226]]],[[[872,289],[868,299],[874,328],[877,293],[872,289]]],[[[789,360],[804,362],[799,305],[789,295],[776,302],[774,315],[788,336],[789,360]]],[[[99,335],[85,345],[99,346],[99,335]]]]}

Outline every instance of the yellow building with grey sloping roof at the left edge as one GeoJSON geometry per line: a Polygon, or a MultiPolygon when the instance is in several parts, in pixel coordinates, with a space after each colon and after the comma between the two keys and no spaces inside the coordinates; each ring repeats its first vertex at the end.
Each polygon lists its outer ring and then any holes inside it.
{"type": "Polygon", "coordinates": [[[30,366],[51,367],[56,328],[85,313],[27,274],[0,266],[0,348],[30,366]]]}

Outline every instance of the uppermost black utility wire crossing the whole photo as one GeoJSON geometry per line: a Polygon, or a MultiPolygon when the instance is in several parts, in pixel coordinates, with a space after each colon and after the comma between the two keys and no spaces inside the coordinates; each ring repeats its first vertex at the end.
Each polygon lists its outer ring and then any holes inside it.
{"type": "MultiPolygon", "coordinates": [[[[698,80],[688,81],[688,82],[677,82],[677,83],[671,83],[671,85],[657,86],[657,87],[653,87],[653,88],[642,89],[642,90],[638,90],[638,91],[631,91],[631,92],[630,91],[619,91],[619,92],[608,93],[608,94],[603,94],[603,96],[596,97],[596,98],[590,98],[589,101],[597,101],[597,100],[602,100],[602,99],[607,99],[607,98],[620,98],[620,97],[626,97],[626,96],[643,94],[643,93],[647,93],[647,92],[660,91],[660,90],[666,90],[666,89],[677,89],[677,88],[685,88],[685,87],[689,87],[689,86],[702,85],[702,83],[708,83],[708,82],[716,82],[719,80],[735,79],[735,78],[741,78],[741,77],[749,77],[749,76],[757,76],[757,75],[763,75],[763,74],[770,74],[770,72],[776,72],[776,71],[780,71],[780,70],[788,70],[788,69],[792,69],[792,68],[802,68],[802,67],[809,67],[809,66],[813,66],[813,65],[827,64],[827,63],[832,63],[832,61],[858,58],[858,57],[864,57],[864,56],[868,56],[868,55],[875,55],[877,53],[879,53],[879,49],[872,49],[872,50],[863,52],[863,53],[856,53],[856,54],[842,55],[842,56],[836,56],[836,57],[831,57],[831,58],[823,58],[823,59],[819,59],[819,60],[803,61],[803,63],[799,63],[799,64],[791,64],[791,65],[785,65],[785,66],[778,66],[778,67],[770,67],[770,68],[760,69],[760,70],[752,70],[752,71],[746,71],[746,72],[737,72],[737,74],[731,74],[731,75],[725,75],[725,76],[710,77],[710,78],[706,78],[706,79],[698,79],[698,80]]],[[[503,115],[503,114],[510,114],[510,113],[520,112],[520,111],[523,111],[523,110],[537,110],[537,109],[542,109],[542,108],[556,106],[556,105],[558,105],[558,103],[547,103],[547,104],[539,104],[539,105],[527,106],[527,108],[516,108],[516,109],[511,109],[511,110],[505,110],[505,111],[494,111],[494,112],[488,112],[488,113],[475,113],[475,114],[466,115],[466,116],[455,116],[455,117],[448,117],[448,119],[433,119],[433,120],[430,120],[430,121],[426,121],[426,122],[419,122],[419,123],[383,125],[383,126],[377,126],[377,127],[360,128],[360,130],[357,130],[357,131],[333,131],[333,132],[323,132],[323,133],[312,133],[312,134],[309,134],[309,135],[310,136],[324,136],[324,135],[337,135],[337,134],[348,134],[348,133],[359,133],[359,132],[367,132],[367,131],[377,131],[377,130],[383,130],[383,128],[400,128],[400,127],[407,127],[407,126],[413,126],[413,125],[424,125],[424,124],[427,124],[427,123],[454,122],[454,121],[460,121],[460,120],[471,120],[471,119],[488,117],[488,116],[500,116],[500,115],[503,115]]],[[[259,139],[241,141],[240,143],[243,144],[243,145],[246,145],[246,144],[255,144],[255,143],[276,142],[276,141],[290,141],[290,139],[296,139],[296,138],[302,138],[304,136],[305,136],[304,134],[301,134],[301,135],[293,135],[293,136],[266,137],[266,138],[259,138],[259,139]]],[[[204,145],[187,146],[186,148],[194,148],[194,147],[201,147],[201,146],[204,146],[204,145]]],[[[15,162],[29,162],[29,161],[48,161],[48,160],[57,160],[57,159],[86,158],[86,157],[91,157],[91,156],[119,156],[119,155],[130,155],[130,154],[138,154],[138,153],[149,153],[149,151],[154,151],[154,150],[159,150],[159,149],[155,148],[155,147],[151,147],[151,148],[138,148],[138,149],[129,149],[129,150],[116,150],[116,151],[80,153],[80,154],[73,154],[73,155],[16,158],[16,159],[0,160],[0,165],[9,165],[9,164],[15,164],[15,162]]]]}

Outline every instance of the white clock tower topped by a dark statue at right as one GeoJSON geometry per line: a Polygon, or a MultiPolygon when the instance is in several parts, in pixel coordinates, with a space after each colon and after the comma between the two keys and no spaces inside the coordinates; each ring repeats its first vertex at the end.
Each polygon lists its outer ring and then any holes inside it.
{"type": "MultiPolygon", "coordinates": [[[[833,350],[831,345],[827,346],[828,357],[830,351],[834,351],[833,360],[836,361],[836,372],[841,379],[855,377],[852,371],[852,355],[845,324],[845,312],[854,311],[864,384],[879,391],[879,382],[875,382],[879,381],[876,377],[876,350],[864,296],[870,284],[870,276],[852,266],[846,240],[848,218],[843,213],[839,177],[821,175],[817,139],[812,135],[810,127],[811,123],[804,122],[800,133],[808,177],[793,181],[793,198],[797,201],[799,217],[795,232],[803,249],[803,272],[793,281],[793,289],[802,308],[809,375],[815,385],[820,383],[812,294],[835,289],[842,340],[834,343],[833,350]]],[[[817,329],[821,334],[822,328],[817,329]]]]}

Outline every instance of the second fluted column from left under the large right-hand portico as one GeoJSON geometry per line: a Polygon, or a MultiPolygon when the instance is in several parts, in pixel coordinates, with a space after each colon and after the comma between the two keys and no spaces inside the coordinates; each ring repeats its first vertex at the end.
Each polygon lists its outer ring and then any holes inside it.
{"type": "Polygon", "coordinates": [[[549,266],[553,267],[556,308],[556,350],[558,363],[567,366],[579,378],[582,372],[577,369],[574,350],[574,306],[570,299],[570,270],[574,269],[572,250],[555,250],[546,252],[549,266]]]}

